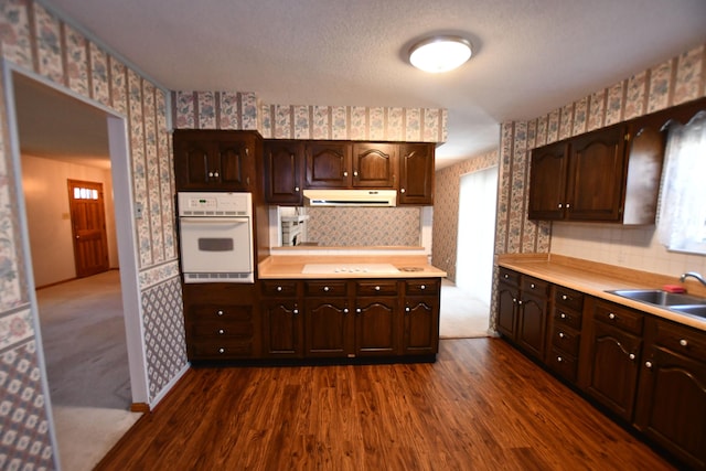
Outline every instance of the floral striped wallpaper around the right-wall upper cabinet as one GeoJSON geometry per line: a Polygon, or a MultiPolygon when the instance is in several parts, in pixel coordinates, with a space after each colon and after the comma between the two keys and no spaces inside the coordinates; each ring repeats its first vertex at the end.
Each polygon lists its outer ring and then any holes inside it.
{"type": "MultiPolygon", "coordinates": [[[[706,44],[530,121],[503,122],[495,254],[548,253],[552,226],[527,220],[530,151],[706,96],[706,44]]],[[[491,325],[495,323],[493,290],[491,325]]]]}

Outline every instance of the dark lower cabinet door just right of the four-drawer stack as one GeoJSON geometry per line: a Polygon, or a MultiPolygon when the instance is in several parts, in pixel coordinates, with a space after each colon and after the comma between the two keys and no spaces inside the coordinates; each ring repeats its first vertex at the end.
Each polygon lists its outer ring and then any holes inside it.
{"type": "Polygon", "coordinates": [[[593,322],[587,392],[625,420],[632,419],[642,340],[593,322]]]}

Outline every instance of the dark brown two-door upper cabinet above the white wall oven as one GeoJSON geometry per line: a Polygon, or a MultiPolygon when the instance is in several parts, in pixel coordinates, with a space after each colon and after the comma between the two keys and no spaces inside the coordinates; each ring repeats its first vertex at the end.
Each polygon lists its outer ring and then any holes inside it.
{"type": "Polygon", "coordinates": [[[255,191],[261,138],[253,131],[175,130],[178,191],[255,191]]]}

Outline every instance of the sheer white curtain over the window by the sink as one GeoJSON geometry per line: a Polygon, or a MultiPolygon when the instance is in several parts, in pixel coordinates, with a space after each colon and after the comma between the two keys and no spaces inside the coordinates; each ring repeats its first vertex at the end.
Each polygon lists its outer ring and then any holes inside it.
{"type": "Polygon", "coordinates": [[[706,248],[706,113],[670,129],[657,234],[667,248],[706,248]]]}

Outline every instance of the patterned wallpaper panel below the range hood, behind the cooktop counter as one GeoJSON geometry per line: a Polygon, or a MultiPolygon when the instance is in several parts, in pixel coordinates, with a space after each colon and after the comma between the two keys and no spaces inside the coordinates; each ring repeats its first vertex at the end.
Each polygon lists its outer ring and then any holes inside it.
{"type": "Polygon", "coordinates": [[[419,207],[307,207],[307,240],[327,247],[421,245],[419,207]]]}

